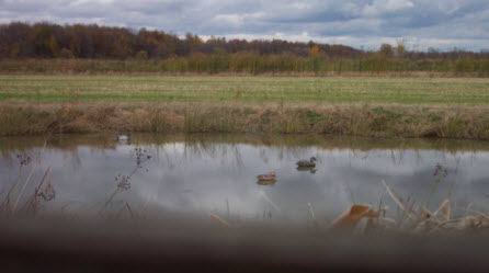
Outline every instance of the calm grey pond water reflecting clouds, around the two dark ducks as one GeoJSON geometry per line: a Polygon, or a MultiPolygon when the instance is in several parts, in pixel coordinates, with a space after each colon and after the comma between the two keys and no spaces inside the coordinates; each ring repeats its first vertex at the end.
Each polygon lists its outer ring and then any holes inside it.
{"type": "MultiPolygon", "coordinates": [[[[43,150],[42,138],[0,138],[1,196],[15,183],[20,160],[22,182],[43,150]]],[[[484,141],[365,139],[326,136],[134,135],[130,144],[112,135],[58,136],[50,139],[27,192],[52,167],[56,197],[44,208],[80,212],[130,175],[130,187],[109,205],[128,203],[133,211],[149,201],[148,214],[203,215],[237,219],[309,219],[310,202],[319,219],[331,219],[352,204],[396,206],[379,181],[410,204],[431,206],[448,196],[456,206],[489,211],[489,146],[484,141]],[[145,159],[137,168],[137,153],[145,159]],[[318,159],[315,170],[295,162],[318,159]],[[434,175],[439,169],[437,175],[434,175]],[[275,171],[276,183],[257,183],[257,174],[275,171]],[[446,175],[443,173],[446,172],[446,175]],[[117,178],[117,181],[116,181],[117,178]],[[453,184],[453,186],[451,186],[453,184]]],[[[49,178],[49,174],[47,175],[49,178]]],[[[463,213],[459,211],[459,213],[463,213]]]]}

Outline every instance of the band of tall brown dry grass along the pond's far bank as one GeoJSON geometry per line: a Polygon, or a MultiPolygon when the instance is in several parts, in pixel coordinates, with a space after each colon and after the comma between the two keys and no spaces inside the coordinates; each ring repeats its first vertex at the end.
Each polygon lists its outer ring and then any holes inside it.
{"type": "Polygon", "coordinates": [[[489,139],[489,112],[401,105],[13,104],[0,135],[58,133],[281,133],[489,139]]]}

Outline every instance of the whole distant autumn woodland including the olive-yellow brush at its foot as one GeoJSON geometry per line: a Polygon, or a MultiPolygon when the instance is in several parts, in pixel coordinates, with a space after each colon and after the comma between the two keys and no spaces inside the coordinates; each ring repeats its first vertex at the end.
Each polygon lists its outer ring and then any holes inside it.
{"type": "MultiPolygon", "coordinates": [[[[489,75],[489,52],[408,50],[399,41],[383,44],[376,50],[345,45],[281,39],[229,39],[212,37],[203,41],[195,34],[179,37],[163,31],[99,26],[96,24],[58,25],[47,22],[0,24],[0,70],[30,70],[15,59],[100,59],[146,60],[152,65],[130,68],[109,62],[101,70],[136,70],[168,72],[331,72],[331,71],[436,71],[477,72],[489,75]],[[122,66],[122,67],[121,67],[122,66]]],[[[77,71],[99,70],[86,62],[70,64],[77,71]]],[[[43,62],[41,70],[49,70],[43,62]]],[[[56,69],[62,69],[61,67],[56,69]]],[[[56,70],[55,69],[55,70],[56,70]]]]}

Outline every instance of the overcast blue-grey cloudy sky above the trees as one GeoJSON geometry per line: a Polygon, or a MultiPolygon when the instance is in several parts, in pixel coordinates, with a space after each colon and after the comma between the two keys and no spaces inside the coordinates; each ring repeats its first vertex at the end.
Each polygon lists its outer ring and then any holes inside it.
{"type": "Polygon", "coordinates": [[[206,38],[281,38],[365,49],[489,49],[488,0],[0,0],[0,22],[147,27],[206,38]]]}

